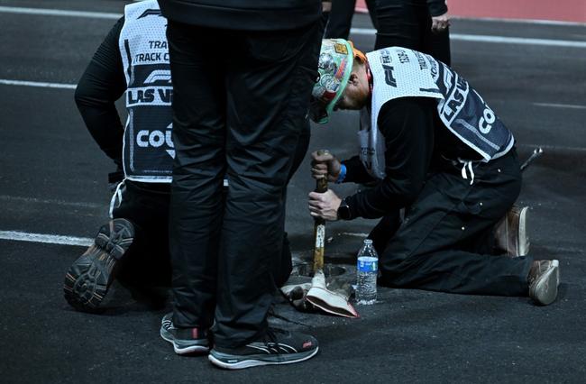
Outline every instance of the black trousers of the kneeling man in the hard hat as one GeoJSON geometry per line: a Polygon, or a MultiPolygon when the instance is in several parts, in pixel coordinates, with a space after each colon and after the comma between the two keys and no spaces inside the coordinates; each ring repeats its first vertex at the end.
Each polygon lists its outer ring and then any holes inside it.
{"type": "Polygon", "coordinates": [[[462,294],[526,296],[532,257],[495,256],[492,228],[521,187],[517,152],[473,167],[436,164],[405,213],[384,217],[371,233],[380,255],[380,283],[462,294]],[[396,231],[396,232],[395,232],[396,231]]]}

